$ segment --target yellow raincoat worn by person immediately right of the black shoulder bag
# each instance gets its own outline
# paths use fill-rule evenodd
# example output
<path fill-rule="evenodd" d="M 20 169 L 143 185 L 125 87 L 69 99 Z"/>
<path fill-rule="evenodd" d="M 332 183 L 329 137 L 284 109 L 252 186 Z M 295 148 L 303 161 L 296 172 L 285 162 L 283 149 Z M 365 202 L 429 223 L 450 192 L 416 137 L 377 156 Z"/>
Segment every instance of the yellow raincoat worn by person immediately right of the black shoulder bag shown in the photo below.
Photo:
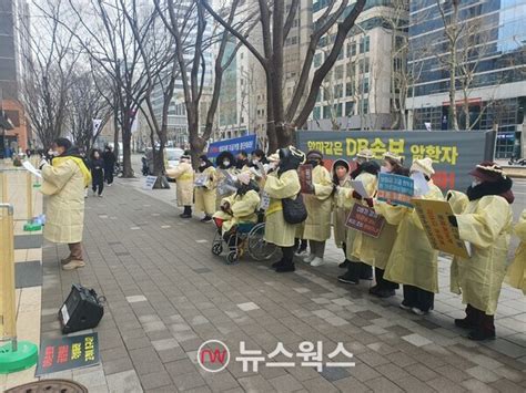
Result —
<path fill-rule="evenodd" d="M 331 237 L 331 211 L 333 207 L 333 182 L 328 170 L 317 165 L 312 170 L 314 194 L 304 194 L 303 200 L 307 209 L 303 239 L 325 241 Z"/>

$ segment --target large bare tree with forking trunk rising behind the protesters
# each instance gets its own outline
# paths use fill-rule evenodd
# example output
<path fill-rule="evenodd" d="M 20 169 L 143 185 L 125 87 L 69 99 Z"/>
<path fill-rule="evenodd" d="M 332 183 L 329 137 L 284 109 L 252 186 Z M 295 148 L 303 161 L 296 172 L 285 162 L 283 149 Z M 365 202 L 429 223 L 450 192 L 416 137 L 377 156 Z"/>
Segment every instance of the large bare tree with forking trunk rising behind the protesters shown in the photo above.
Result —
<path fill-rule="evenodd" d="M 296 18 L 300 0 L 291 0 L 289 11 L 286 11 L 285 8 L 285 0 L 274 0 L 271 2 L 256 0 L 256 2 L 260 10 L 260 24 L 263 38 L 262 51 L 256 49 L 231 22 L 215 12 L 208 0 L 200 0 L 200 3 L 204 6 L 206 11 L 229 30 L 232 35 L 240 40 L 264 69 L 266 75 L 269 149 L 273 151 L 279 146 L 292 144 L 294 130 L 306 123 L 316 103 L 316 96 L 322 82 L 336 62 L 347 33 L 362 12 L 366 0 L 357 0 L 351 12 L 346 15 L 344 12 L 347 8 L 348 0 L 343 0 L 337 9 L 335 9 L 335 1 L 328 3 L 311 34 L 311 41 L 308 42 L 306 55 L 303 60 L 302 71 L 294 90 L 294 95 L 286 107 L 283 92 L 283 48 Z M 313 80 L 307 89 L 310 71 L 317 44 L 322 37 L 334 25 L 337 25 L 337 32 L 332 43 L 330 54 L 323 64 L 314 72 Z M 301 105 L 302 107 L 300 108 Z"/>

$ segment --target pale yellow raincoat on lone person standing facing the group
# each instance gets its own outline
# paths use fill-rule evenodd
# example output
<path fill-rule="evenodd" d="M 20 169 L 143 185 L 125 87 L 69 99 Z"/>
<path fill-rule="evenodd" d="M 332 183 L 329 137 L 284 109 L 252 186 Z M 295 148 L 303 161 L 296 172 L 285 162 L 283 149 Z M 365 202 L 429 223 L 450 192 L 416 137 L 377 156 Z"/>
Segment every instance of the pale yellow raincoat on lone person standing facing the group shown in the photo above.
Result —
<path fill-rule="evenodd" d="M 80 242 L 84 226 L 84 176 L 73 159 L 42 168 L 45 200 L 43 236 L 52 242 Z"/>

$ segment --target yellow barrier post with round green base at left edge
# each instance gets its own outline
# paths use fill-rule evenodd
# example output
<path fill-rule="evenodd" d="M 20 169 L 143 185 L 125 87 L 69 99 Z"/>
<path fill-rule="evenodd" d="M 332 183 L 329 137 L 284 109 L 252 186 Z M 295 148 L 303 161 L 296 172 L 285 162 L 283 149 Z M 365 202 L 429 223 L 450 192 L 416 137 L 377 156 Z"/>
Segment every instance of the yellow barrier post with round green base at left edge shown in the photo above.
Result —
<path fill-rule="evenodd" d="M 13 206 L 0 204 L 0 374 L 37 364 L 38 348 L 17 338 Z"/>

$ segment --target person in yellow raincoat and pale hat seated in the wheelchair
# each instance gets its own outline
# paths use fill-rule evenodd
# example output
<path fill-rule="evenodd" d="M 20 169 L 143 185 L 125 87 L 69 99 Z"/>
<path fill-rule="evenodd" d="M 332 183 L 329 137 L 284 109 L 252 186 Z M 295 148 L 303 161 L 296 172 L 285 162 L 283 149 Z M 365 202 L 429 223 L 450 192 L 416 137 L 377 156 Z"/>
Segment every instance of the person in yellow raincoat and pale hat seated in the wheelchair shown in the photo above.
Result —
<path fill-rule="evenodd" d="M 221 231 L 230 248 L 237 246 L 235 234 L 240 225 L 257 223 L 257 208 L 260 206 L 260 188 L 257 183 L 251 179 L 250 173 L 239 174 L 237 183 L 237 192 L 223 198 L 220 210 L 213 216 L 216 223 L 218 220 L 221 221 L 221 225 L 218 225 L 218 230 Z"/>

